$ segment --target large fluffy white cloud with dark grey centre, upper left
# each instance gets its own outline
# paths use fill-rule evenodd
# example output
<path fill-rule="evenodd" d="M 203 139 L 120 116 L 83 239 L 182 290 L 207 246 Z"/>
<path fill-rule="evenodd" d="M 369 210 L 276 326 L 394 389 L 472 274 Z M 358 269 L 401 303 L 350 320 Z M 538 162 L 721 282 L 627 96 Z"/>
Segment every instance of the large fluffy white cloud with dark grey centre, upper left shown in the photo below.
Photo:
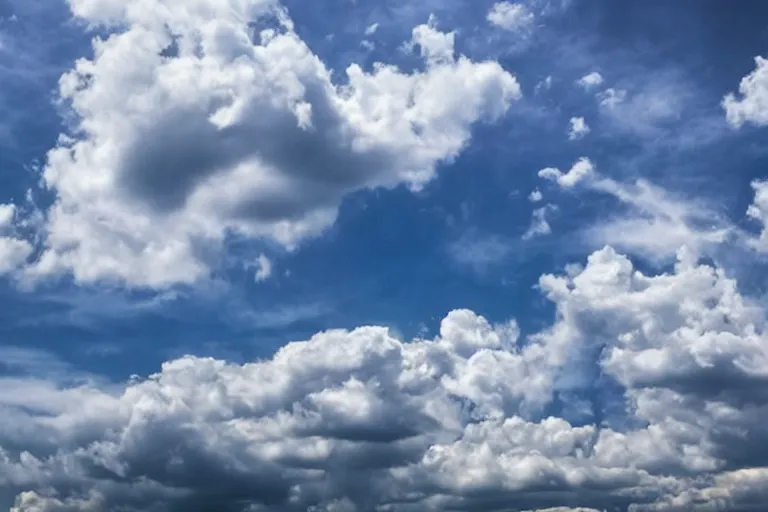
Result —
<path fill-rule="evenodd" d="M 368 187 L 418 189 L 479 120 L 520 96 L 495 61 L 413 30 L 423 70 L 351 65 L 335 77 L 267 0 L 70 0 L 94 57 L 60 81 L 73 128 L 48 154 L 42 255 L 31 277 L 71 273 L 163 287 L 207 275 L 229 233 L 288 248 Z M 266 16 L 277 29 L 259 30 Z"/>

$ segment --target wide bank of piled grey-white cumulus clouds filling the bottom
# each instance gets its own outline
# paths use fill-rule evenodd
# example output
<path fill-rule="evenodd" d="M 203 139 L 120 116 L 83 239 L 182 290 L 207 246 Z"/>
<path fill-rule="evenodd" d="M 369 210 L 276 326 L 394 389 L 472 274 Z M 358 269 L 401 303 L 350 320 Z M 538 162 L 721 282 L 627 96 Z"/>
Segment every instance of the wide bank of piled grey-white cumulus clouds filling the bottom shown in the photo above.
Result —
<path fill-rule="evenodd" d="M 606 247 L 539 288 L 555 320 L 525 339 L 457 310 L 434 339 L 332 330 L 122 386 L 3 377 L 0 499 L 15 495 L 14 512 L 761 503 L 768 339 L 735 281 L 687 250 L 646 275 Z M 548 415 L 585 358 L 623 421 Z"/>

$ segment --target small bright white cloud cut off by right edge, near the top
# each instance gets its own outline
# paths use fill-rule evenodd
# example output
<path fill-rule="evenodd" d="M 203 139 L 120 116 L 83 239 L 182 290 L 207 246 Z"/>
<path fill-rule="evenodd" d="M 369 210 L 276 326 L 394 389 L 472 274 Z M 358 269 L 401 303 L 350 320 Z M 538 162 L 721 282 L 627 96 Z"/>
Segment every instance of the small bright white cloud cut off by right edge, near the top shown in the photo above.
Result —
<path fill-rule="evenodd" d="M 744 123 L 768 124 L 768 60 L 755 57 L 755 69 L 741 79 L 739 95 L 728 93 L 723 108 L 728 122 L 736 128 Z"/>

